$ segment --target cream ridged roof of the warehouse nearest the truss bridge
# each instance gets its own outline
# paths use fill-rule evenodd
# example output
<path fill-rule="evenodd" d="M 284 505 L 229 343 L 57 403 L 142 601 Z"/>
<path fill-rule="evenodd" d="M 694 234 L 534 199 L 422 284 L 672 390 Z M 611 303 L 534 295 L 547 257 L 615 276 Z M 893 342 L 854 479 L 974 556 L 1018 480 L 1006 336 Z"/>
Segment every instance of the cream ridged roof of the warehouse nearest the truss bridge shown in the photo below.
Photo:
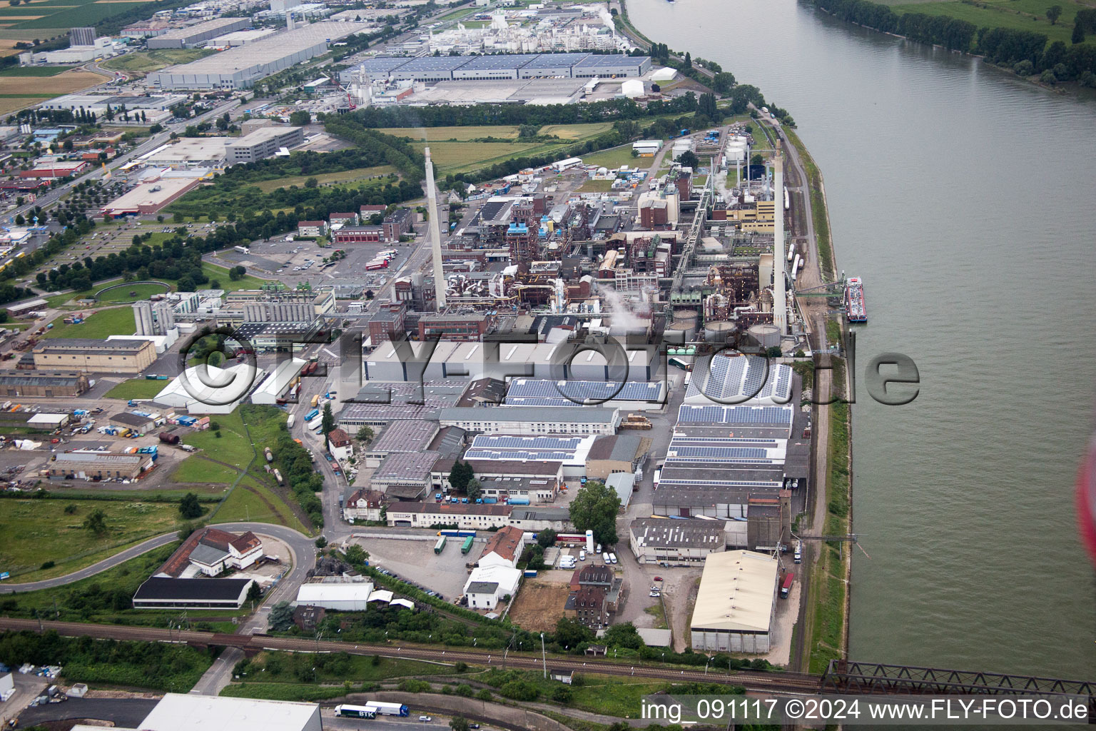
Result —
<path fill-rule="evenodd" d="M 755 551 L 709 553 L 693 609 L 693 631 L 767 632 L 778 561 Z"/>

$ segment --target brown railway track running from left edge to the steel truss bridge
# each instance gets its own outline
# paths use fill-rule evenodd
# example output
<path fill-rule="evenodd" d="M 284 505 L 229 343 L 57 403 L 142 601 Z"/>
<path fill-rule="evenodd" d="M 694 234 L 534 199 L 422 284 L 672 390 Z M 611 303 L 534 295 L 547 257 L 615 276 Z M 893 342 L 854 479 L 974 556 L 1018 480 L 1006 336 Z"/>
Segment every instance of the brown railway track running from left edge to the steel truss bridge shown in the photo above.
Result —
<path fill-rule="evenodd" d="M 94 637 L 109 640 L 133 640 L 139 642 L 182 642 L 199 647 L 233 647 L 244 651 L 281 650 L 284 652 L 346 652 L 358 655 L 380 655 L 381 658 L 408 658 L 426 662 L 468 664 L 501 667 L 503 654 L 495 650 L 439 649 L 437 647 L 403 644 L 351 644 L 350 642 L 315 641 L 270 635 L 226 635 L 219 632 L 196 632 L 187 630 L 161 629 L 156 627 L 133 627 L 126 625 L 88 625 L 75 621 L 43 621 L 42 629 L 54 630 L 67 637 Z M 0 629 L 38 631 L 39 623 L 34 619 L 0 617 Z M 536 655 L 507 653 L 505 666 L 522 670 L 540 670 L 541 659 Z M 703 670 L 676 669 L 651 665 L 631 665 L 606 659 L 578 659 L 553 655 L 552 667 L 574 670 L 583 673 L 650 677 L 677 683 L 718 683 L 738 685 L 753 692 L 781 692 L 797 694 L 818 693 L 822 678 L 807 673 L 705 673 Z"/>

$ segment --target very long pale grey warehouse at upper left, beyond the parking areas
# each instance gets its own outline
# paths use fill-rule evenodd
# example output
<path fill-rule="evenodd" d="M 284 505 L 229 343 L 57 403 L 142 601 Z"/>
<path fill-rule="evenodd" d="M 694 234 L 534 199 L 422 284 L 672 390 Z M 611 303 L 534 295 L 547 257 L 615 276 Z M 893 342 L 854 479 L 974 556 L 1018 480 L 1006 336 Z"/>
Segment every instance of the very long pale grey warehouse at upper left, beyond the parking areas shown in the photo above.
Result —
<path fill-rule="evenodd" d="M 161 89 L 247 89 L 256 80 L 327 53 L 328 43 L 365 23 L 311 23 L 148 76 Z M 161 36 L 162 37 L 162 36 Z"/>

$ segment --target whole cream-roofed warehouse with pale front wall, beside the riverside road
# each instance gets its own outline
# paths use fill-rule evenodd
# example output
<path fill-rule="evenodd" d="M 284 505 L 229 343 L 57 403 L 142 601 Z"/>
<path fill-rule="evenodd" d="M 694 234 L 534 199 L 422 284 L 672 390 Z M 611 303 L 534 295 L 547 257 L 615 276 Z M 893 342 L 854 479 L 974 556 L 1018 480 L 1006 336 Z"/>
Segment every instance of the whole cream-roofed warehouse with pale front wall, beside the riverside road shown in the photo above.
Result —
<path fill-rule="evenodd" d="M 699 652 L 769 651 L 779 561 L 766 553 L 728 551 L 704 561 L 689 629 Z"/>

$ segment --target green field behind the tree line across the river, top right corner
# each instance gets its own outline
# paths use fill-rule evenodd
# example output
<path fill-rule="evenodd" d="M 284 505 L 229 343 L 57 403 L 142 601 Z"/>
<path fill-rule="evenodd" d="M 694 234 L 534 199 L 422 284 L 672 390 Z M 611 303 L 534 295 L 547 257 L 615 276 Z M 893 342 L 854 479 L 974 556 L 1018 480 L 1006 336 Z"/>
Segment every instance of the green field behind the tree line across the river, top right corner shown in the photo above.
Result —
<path fill-rule="evenodd" d="M 882 0 L 897 13 L 925 13 L 946 15 L 982 27 L 1006 27 L 1017 31 L 1046 33 L 1050 42 L 1062 41 L 1070 45 L 1073 19 L 1077 10 L 1089 5 L 1074 0 L 979 0 L 978 4 L 952 0 L 950 2 L 910 2 L 910 0 Z M 1047 20 L 1047 9 L 1061 5 L 1062 15 L 1054 25 Z M 1088 35 L 1086 43 L 1093 43 Z"/>

